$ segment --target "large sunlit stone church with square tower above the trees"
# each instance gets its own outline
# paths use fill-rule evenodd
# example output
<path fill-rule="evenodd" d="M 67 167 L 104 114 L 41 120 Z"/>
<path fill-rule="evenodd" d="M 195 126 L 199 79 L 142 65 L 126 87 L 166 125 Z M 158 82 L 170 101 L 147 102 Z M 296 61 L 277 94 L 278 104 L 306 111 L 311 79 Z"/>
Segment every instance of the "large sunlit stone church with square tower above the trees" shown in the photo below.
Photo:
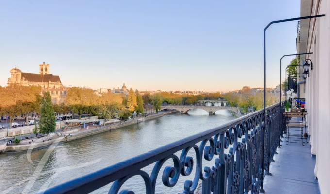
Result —
<path fill-rule="evenodd" d="M 8 86 L 19 84 L 22 86 L 40 86 L 43 91 L 49 91 L 52 102 L 60 104 L 65 102 L 66 88 L 62 85 L 59 76 L 50 74 L 50 65 L 43 62 L 39 65 L 39 74 L 24 73 L 16 67 L 10 70 Z"/>

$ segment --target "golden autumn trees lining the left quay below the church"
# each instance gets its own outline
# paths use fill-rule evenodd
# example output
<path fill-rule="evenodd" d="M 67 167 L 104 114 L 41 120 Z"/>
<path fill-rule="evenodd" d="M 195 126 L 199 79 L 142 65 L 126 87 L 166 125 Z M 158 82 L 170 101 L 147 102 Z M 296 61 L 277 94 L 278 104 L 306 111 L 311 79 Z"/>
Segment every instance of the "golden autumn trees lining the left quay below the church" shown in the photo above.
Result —
<path fill-rule="evenodd" d="M 42 93 L 41 87 L 37 86 L 0 87 L 0 115 L 8 116 L 10 123 L 14 122 L 16 117 L 22 116 L 28 124 L 29 114 L 33 113 L 40 117 L 45 94 Z M 161 97 L 154 95 L 150 97 L 150 100 L 151 105 L 158 112 L 161 108 Z M 105 123 L 113 117 L 125 120 L 134 112 L 144 113 L 145 106 L 139 91 L 133 91 L 132 88 L 127 96 L 111 92 L 98 96 L 92 89 L 72 87 L 68 88 L 66 102 L 53 104 L 51 108 L 56 115 L 73 113 L 81 118 L 82 114 L 88 114 L 89 116 L 99 116 Z"/>

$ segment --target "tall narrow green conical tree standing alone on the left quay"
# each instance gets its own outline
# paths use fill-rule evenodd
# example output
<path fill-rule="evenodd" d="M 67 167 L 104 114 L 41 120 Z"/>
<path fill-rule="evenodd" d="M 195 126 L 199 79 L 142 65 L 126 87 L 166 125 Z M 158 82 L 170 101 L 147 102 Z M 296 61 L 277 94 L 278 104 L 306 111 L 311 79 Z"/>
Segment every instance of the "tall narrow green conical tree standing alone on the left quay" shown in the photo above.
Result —
<path fill-rule="evenodd" d="M 40 108 L 39 130 L 41 133 L 49 134 L 55 132 L 55 112 L 51 103 L 49 92 L 44 93 Z"/>

